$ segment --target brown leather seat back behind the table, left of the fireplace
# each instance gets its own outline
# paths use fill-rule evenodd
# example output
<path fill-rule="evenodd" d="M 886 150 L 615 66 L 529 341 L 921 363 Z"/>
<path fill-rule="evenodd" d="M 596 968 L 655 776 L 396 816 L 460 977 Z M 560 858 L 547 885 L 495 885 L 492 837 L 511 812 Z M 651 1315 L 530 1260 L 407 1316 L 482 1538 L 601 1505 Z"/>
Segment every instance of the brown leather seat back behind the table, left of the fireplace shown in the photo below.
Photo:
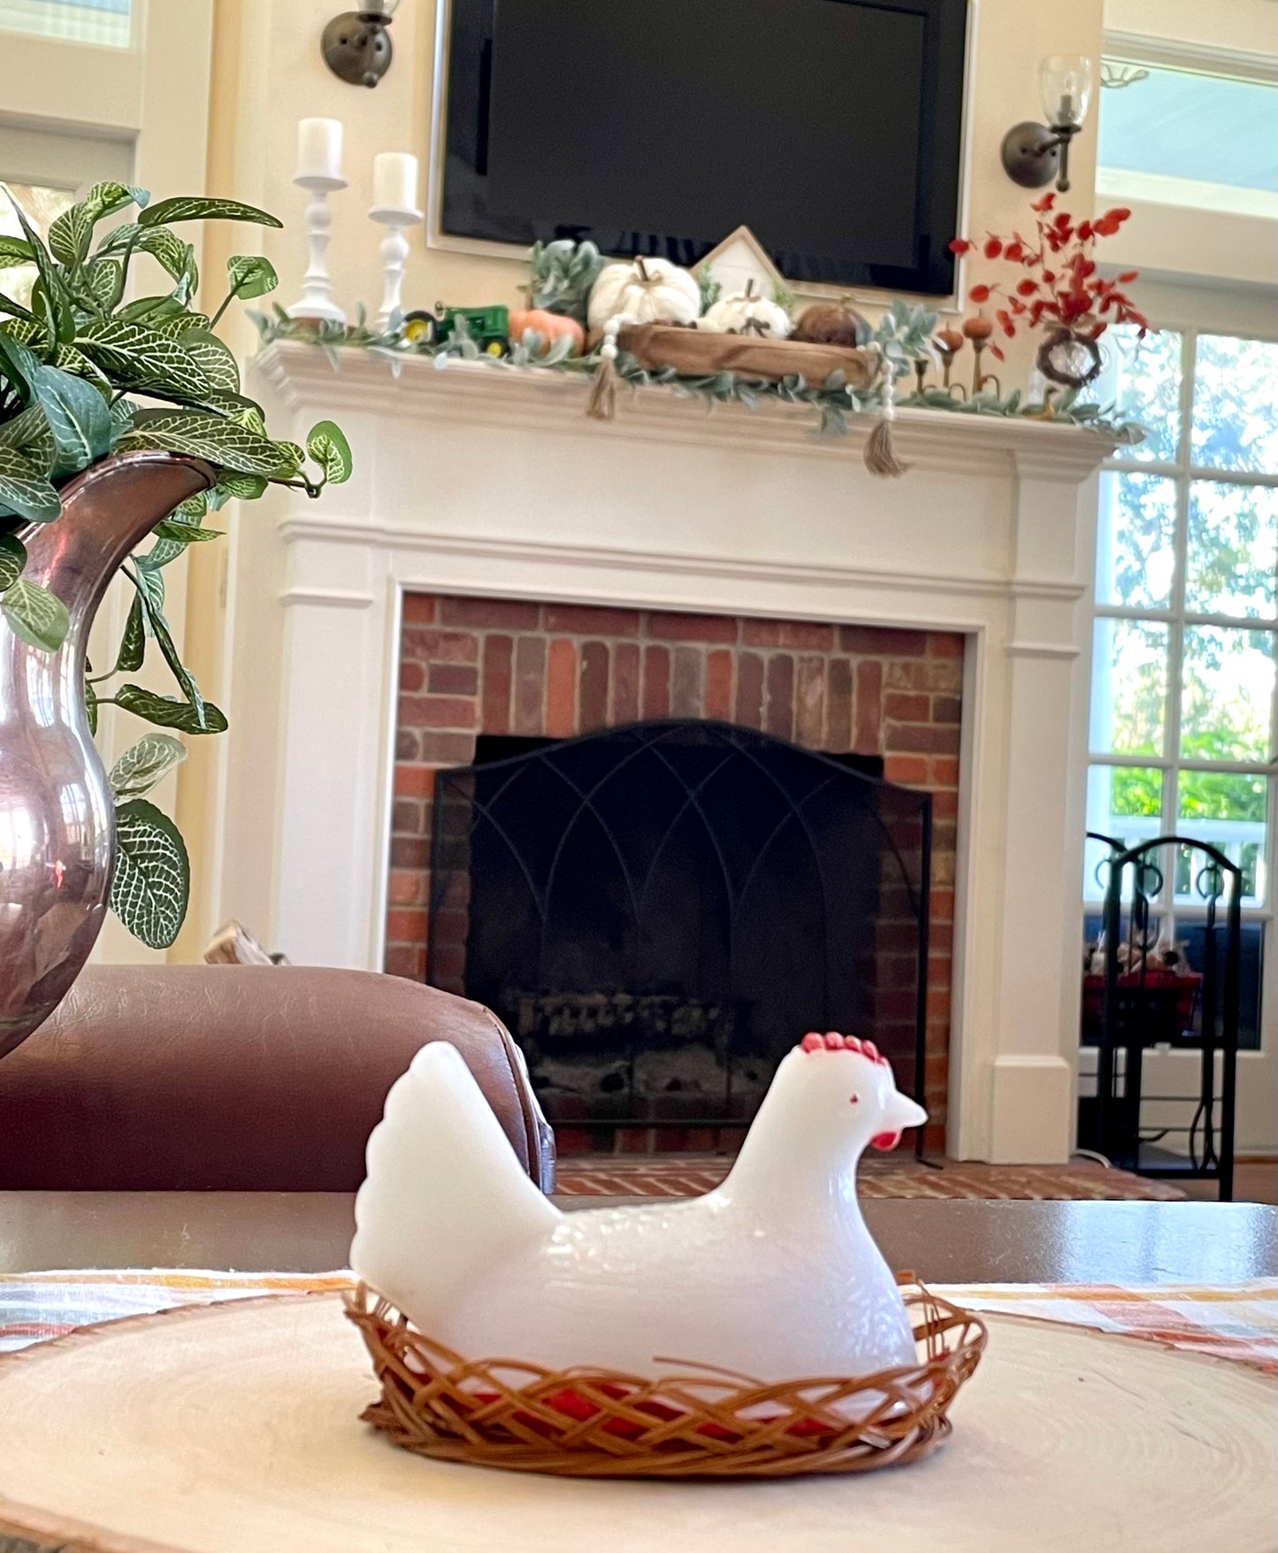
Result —
<path fill-rule="evenodd" d="M 450 1041 L 533 1180 L 554 1143 L 478 1003 L 365 971 L 90 966 L 0 1061 L 0 1190 L 354 1191 L 387 1090 Z"/>

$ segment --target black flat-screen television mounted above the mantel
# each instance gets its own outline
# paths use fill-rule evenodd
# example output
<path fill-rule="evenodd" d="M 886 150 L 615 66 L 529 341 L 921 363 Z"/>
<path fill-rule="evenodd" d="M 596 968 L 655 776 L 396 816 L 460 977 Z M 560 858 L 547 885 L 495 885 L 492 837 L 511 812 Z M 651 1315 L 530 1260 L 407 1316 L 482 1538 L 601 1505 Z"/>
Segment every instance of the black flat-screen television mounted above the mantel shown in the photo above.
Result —
<path fill-rule="evenodd" d="M 946 295 L 967 0 L 452 0 L 439 227 Z"/>

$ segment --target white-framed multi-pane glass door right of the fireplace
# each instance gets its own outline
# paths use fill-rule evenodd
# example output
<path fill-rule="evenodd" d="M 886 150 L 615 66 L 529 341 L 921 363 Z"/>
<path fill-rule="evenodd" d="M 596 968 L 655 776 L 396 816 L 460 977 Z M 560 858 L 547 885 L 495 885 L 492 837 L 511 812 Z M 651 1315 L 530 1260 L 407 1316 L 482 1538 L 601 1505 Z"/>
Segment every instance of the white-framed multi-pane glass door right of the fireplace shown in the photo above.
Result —
<path fill-rule="evenodd" d="M 1101 474 L 1087 828 L 1127 846 L 1177 834 L 1239 863 L 1258 983 L 1278 773 L 1278 343 L 1193 329 L 1106 339 L 1099 391 L 1149 436 Z M 1106 856 L 1089 840 L 1093 909 Z M 1155 905 L 1172 936 L 1193 936 L 1188 854 Z"/>

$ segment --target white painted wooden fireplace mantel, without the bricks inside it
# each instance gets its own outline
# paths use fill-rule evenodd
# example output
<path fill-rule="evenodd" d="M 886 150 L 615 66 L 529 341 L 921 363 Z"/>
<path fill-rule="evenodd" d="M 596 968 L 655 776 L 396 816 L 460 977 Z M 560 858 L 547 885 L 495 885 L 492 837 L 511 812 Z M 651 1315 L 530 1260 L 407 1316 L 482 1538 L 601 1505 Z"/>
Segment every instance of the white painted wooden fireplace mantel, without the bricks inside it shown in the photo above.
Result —
<path fill-rule="evenodd" d="M 1095 469 L 1112 443 L 902 410 L 865 426 L 669 390 L 589 421 L 575 376 L 276 343 L 276 435 L 335 419 L 356 474 L 234 528 L 216 905 L 293 960 L 380 966 L 401 599 L 408 590 L 961 631 L 950 1151 L 1073 1138 Z"/>

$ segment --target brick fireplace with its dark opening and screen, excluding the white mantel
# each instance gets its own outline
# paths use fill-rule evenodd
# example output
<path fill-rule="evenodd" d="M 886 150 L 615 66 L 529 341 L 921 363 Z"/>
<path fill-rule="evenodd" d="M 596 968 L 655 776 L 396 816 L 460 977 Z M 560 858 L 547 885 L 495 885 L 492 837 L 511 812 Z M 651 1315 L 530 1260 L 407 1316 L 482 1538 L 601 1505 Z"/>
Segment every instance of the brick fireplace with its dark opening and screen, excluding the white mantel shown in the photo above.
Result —
<path fill-rule="evenodd" d="M 494 1008 L 561 1152 L 731 1148 L 809 1028 L 943 1143 L 963 638 L 405 598 L 385 968 Z"/>

